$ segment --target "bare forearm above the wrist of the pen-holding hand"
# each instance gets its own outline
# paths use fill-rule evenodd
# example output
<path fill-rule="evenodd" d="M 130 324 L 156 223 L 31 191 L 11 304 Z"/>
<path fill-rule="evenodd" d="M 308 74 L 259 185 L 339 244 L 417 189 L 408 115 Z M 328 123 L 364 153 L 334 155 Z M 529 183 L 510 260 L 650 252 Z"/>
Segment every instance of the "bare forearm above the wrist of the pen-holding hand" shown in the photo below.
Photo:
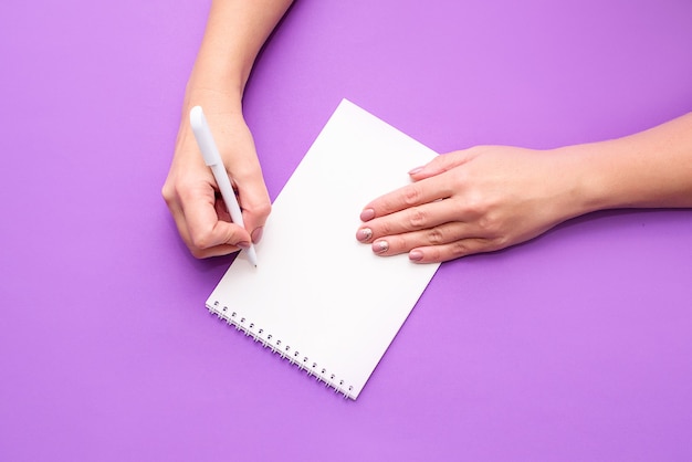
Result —
<path fill-rule="evenodd" d="M 205 36 L 188 81 L 196 92 L 242 94 L 254 60 L 291 0 L 213 0 Z"/>

